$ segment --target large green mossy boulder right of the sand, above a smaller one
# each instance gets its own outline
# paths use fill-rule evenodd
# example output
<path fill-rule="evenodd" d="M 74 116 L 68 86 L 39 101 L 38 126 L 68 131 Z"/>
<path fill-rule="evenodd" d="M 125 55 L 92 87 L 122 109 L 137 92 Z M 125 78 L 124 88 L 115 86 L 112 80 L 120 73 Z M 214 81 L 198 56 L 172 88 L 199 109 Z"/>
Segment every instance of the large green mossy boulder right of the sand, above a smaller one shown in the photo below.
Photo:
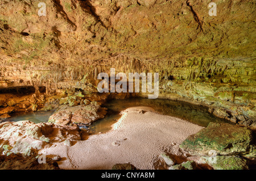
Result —
<path fill-rule="evenodd" d="M 180 148 L 192 155 L 209 155 L 212 150 L 218 155 L 249 154 L 252 140 L 252 131 L 246 127 L 209 123 L 207 128 L 183 141 Z"/>

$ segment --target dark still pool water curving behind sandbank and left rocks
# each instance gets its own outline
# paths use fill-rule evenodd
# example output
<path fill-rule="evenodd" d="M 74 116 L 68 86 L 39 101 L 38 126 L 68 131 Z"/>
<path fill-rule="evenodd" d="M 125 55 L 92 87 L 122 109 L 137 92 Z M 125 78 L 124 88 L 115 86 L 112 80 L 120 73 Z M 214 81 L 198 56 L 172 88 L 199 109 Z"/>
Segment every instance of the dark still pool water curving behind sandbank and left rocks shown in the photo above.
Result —
<path fill-rule="evenodd" d="M 189 103 L 177 102 L 174 100 L 166 99 L 146 99 L 146 98 L 133 98 L 133 99 L 119 99 L 110 100 L 108 103 L 102 105 L 108 108 L 108 113 L 104 119 L 100 119 L 89 125 L 92 133 L 108 132 L 112 129 L 112 125 L 121 117 L 119 114 L 121 111 L 126 110 L 129 107 L 148 106 L 154 108 L 154 110 L 162 115 L 169 115 L 179 117 L 181 119 L 190 121 L 197 125 L 207 127 L 210 122 L 214 123 L 230 123 L 225 119 L 214 116 L 208 112 L 207 107 L 195 106 Z M 47 122 L 49 116 L 54 111 L 39 111 L 30 113 L 14 113 L 12 117 L 6 119 L 6 121 L 21 121 L 30 120 L 34 123 Z"/>

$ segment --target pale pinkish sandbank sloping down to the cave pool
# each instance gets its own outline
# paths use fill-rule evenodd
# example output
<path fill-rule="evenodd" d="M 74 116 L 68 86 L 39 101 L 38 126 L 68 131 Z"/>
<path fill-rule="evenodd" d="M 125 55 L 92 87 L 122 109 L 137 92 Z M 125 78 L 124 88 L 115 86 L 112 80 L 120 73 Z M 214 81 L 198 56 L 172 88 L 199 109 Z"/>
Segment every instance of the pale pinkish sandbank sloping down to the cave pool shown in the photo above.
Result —
<path fill-rule="evenodd" d="M 116 163 L 128 162 L 137 169 L 154 169 L 160 154 L 167 150 L 180 155 L 181 142 L 202 128 L 160 115 L 149 107 L 132 107 L 122 112 L 111 131 L 92 135 L 71 147 L 61 142 L 40 153 L 60 155 L 61 169 L 112 169 Z"/>

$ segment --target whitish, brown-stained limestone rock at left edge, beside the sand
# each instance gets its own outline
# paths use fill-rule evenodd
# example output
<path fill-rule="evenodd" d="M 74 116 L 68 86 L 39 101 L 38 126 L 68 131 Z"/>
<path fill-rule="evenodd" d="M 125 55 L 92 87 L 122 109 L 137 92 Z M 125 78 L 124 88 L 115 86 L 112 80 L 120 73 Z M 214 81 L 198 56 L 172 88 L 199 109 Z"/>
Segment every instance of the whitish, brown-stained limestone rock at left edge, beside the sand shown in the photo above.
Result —
<path fill-rule="evenodd" d="M 79 128 L 52 123 L 35 124 L 31 121 L 0 124 L 0 151 L 8 150 L 23 155 L 36 155 L 38 150 L 45 146 L 67 139 L 81 140 Z"/>

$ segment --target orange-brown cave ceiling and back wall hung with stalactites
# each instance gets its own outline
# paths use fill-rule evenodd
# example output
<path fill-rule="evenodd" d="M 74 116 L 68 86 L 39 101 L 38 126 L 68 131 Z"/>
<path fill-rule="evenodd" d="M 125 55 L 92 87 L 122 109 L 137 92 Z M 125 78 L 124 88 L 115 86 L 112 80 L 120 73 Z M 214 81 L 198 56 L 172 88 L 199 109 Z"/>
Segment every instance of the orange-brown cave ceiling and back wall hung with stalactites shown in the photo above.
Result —
<path fill-rule="evenodd" d="M 0 89 L 96 91 L 110 68 L 159 72 L 160 97 L 256 119 L 255 1 L 10 0 L 0 8 Z M 254 124 L 255 125 L 255 124 Z"/>

